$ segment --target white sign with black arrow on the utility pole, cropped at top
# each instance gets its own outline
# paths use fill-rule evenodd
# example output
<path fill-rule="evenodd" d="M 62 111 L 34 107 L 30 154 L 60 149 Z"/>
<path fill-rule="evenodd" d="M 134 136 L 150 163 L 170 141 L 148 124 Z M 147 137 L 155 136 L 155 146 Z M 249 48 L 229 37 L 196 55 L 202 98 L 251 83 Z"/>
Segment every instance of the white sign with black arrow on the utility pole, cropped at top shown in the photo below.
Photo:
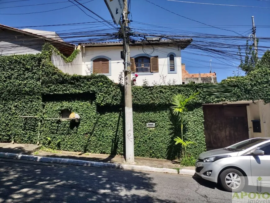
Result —
<path fill-rule="evenodd" d="M 118 25 L 122 12 L 124 10 L 124 0 L 104 0 L 109 11 L 112 19 L 114 20 L 115 24 Z"/>

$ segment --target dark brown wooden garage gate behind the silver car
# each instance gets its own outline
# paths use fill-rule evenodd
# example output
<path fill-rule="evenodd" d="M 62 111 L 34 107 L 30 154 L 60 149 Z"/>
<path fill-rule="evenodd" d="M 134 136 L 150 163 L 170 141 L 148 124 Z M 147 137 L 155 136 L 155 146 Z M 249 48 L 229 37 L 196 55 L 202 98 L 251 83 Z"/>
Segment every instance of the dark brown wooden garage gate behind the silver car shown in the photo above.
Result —
<path fill-rule="evenodd" d="M 204 105 L 207 150 L 214 150 L 249 139 L 246 105 Z"/>

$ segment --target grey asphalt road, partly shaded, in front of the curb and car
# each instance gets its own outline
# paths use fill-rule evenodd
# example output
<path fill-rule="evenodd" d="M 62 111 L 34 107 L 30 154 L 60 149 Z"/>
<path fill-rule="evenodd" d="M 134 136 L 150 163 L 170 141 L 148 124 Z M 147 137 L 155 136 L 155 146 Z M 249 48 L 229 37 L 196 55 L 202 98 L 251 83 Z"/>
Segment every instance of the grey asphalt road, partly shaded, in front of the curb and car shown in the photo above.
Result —
<path fill-rule="evenodd" d="M 201 178 L 7 160 L 0 160 L 1 203 L 232 202 Z"/>

